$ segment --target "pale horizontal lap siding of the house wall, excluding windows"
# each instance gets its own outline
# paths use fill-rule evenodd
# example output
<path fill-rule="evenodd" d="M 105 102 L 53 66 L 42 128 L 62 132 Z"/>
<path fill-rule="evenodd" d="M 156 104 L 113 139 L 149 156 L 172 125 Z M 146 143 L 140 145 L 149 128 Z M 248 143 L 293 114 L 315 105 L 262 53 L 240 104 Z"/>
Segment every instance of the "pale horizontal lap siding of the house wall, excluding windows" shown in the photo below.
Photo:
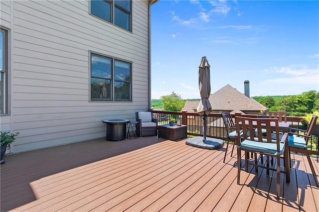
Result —
<path fill-rule="evenodd" d="M 1 1 L 1 25 L 2 4 L 10 3 Z M 7 122 L 20 132 L 13 152 L 105 137 L 103 119 L 135 119 L 148 109 L 149 5 L 132 4 L 132 32 L 90 15 L 85 0 L 14 1 L 13 14 L 4 8 L 4 22 L 13 22 Z M 89 101 L 90 51 L 132 62 L 132 102 Z"/>

